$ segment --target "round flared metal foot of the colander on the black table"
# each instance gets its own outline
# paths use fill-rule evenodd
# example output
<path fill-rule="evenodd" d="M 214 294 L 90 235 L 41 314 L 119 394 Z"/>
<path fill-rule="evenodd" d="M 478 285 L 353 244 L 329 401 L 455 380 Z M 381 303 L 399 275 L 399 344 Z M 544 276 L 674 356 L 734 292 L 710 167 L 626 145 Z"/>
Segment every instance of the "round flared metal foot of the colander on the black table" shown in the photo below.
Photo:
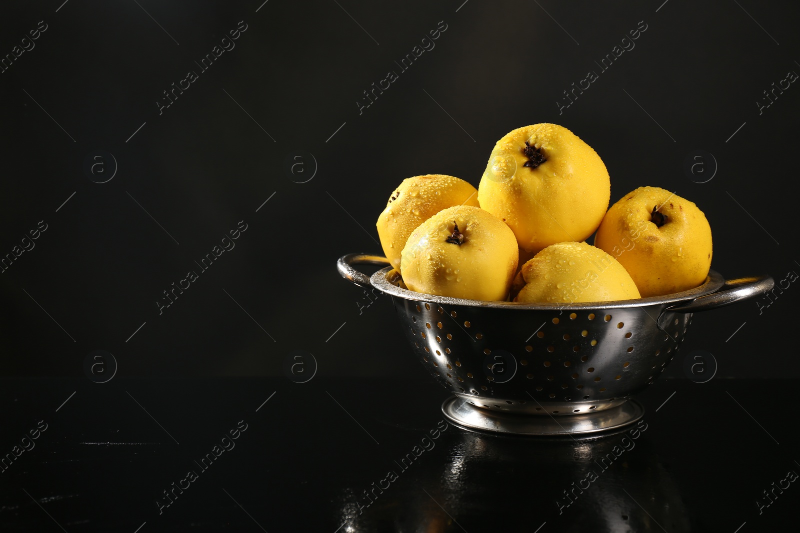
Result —
<path fill-rule="evenodd" d="M 454 424 L 481 432 L 528 436 L 575 436 L 606 432 L 634 424 L 644 415 L 636 400 L 592 413 L 579 415 L 514 415 L 479 408 L 468 401 L 451 396 L 442 404 L 442 412 Z"/>

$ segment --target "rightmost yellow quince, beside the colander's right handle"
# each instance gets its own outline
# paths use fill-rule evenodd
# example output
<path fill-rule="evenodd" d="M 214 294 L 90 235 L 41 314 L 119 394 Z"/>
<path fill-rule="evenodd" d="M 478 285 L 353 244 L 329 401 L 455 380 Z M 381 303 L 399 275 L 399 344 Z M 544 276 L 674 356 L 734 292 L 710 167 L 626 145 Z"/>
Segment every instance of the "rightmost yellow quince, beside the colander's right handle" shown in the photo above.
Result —
<path fill-rule="evenodd" d="M 611 206 L 594 245 L 622 263 L 642 296 L 702 284 L 711 268 L 711 227 L 694 202 L 639 187 Z"/>

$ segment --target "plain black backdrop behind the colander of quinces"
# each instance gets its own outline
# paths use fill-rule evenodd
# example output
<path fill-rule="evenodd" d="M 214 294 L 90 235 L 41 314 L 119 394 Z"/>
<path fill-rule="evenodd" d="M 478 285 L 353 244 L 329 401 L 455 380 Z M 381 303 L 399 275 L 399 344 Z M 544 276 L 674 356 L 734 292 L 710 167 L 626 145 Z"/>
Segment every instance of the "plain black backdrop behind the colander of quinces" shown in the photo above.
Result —
<path fill-rule="evenodd" d="M 0 253 L 38 221 L 48 225 L 0 274 L 5 375 L 81 376 L 86 354 L 103 349 L 119 376 L 282 376 L 287 354 L 302 349 L 320 376 L 422 376 L 390 300 L 359 310 L 362 290 L 335 261 L 380 252 L 374 221 L 402 179 L 448 173 L 477 186 L 494 142 L 537 122 L 565 125 L 596 149 L 612 203 L 640 185 L 697 203 L 723 276 L 778 281 L 800 271 L 800 89 L 762 114 L 756 103 L 800 71 L 800 8 L 790 2 L 54 0 L 0 9 L 3 55 L 47 24 L 0 74 Z M 159 114 L 162 91 L 198 70 L 239 21 L 247 30 L 234 50 Z M 398 70 L 439 21 L 447 29 L 434 50 L 359 114 L 362 91 Z M 634 50 L 600 73 L 594 62 L 640 21 L 647 29 Z M 559 113 L 562 91 L 589 70 L 598 81 Z M 84 172 L 98 149 L 118 163 L 104 184 Z M 718 164 L 702 184 L 683 169 L 697 149 Z M 318 163 L 306 183 L 294 181 L 308 173 L 286 172 L 295 150 Z M 242 220 L 235 249 L 159 316 L 162 291 Z M 698 314 L 683 352 L 714 353 L 718 378 L 797 376 L 796 290 L 762 313 L 749 301 Z M 682 375 L 681 365 L 668 375 Z"/>

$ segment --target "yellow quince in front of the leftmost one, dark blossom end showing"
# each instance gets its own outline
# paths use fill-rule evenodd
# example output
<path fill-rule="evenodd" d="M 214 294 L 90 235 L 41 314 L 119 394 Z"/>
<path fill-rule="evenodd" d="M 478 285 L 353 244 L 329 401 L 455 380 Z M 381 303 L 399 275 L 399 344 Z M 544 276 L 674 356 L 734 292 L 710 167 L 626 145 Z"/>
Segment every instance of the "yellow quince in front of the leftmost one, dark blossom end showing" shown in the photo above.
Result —
<path fill-rule="evenodd" d="M 402 250 L 412 291 L 469 300 L 506 300 L 517 270 L 514 233 L 473 205 L 443 209 L 414 229 Z"/>

